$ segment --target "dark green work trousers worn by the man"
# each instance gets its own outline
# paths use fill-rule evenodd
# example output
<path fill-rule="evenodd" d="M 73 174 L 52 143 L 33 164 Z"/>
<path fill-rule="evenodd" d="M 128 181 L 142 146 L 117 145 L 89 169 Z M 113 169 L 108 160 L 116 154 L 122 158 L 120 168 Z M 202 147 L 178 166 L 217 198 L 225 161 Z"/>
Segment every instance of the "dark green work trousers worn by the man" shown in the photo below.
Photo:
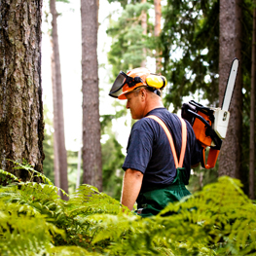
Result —
<path fill-rule="evenodd" d="M 171 185 L 164 188 L 150 188 L 139 193 L 136 213 L 141 217 L 157 215 L 169 202 L 180 201 L 191 195 L 183 182 L 183 168 L 177 168 L 177 175 Z"/>

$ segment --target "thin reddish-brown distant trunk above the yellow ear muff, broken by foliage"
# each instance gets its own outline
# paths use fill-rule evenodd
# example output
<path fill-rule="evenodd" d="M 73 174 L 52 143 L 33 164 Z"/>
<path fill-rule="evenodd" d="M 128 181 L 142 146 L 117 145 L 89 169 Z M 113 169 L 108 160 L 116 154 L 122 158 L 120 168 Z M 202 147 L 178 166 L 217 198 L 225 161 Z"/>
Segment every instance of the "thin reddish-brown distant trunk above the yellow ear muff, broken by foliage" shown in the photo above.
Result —
<path fill-rule="evenodd" d="M 161 0 L 154 0 L 155 6 L 155 29 L 154 35 L 155 37 L 159 37 L 161 33 L 161 18 L 162 18 L 162 10 L 161 10 Z M 162 53 L 160 51 L 156 52 L 156 71 L 157 73 L 161 72 L 162 69 Z"/>

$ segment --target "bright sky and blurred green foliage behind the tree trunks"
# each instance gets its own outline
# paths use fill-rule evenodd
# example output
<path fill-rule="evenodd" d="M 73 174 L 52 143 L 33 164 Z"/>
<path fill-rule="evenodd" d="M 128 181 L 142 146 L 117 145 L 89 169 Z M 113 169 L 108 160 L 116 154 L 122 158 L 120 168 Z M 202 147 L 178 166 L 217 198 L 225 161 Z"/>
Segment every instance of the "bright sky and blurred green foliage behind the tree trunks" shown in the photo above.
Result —
<path fill-rule="evenodd" d="M 141 15 L 142 4 L 132 2 L 99 2 L 98 26 L 98 75 L 99 108 L 101 115 L 101 147 L 103 192 L 119 199 L 123 171 L 122 163 L 126 155 L 129 129 L 132 122 L 122 102 L 109 98 L 108 91 L 119 70 L 128 71 L 130 67 L 141 64 L 136 51 L 141 50 L 140 39 L 144 40 L 147 51 L 147 67 L 156 71 L 156 53 L 162 48 L 163 70 L 167 77 L 165 89 L 165 106 L 169 111 L 178 112 L 182 102 L 190 99 L 209 106 L 218 106 L 218 61 L 219 61 L 219 2 L 193 1 L 174 2 L 172 7 L 162 1 L 163 17 L 160 40 L 152 36 L 154 26 L 153 3 L 144 3 L 148 13 L 147 35 L 138 36 L 142 31 L 134 25 Z M 171 11 L 171 8 L 172 11 Z M 65 137 L 68 149 L 68 181 L 70 191 L 74 191 L 77 182 L 78 152 L 82 142 L 82 81 L 81 81 L 81 17 L 80 5 L 76 1 L 56 2 L 56 9 L 61 15 L 57 18 L 59 34 L 59 51 L 61 60 Z M 51 16 L 49 7 L 44 2 L 43 44 L 42 44 L 42 85 L 45 102 L 46 139 L 44 172 L 54 181 L 53 149 L 53 98 L 51 82 L 51 44 L 49 29 Z M 168 10 L 168 11 L 167 11 Z M 250 115 L 250 52 L 252 40 L 252 2 L 242 5 L 243 25 L 246 27 L 242 40 L 243 69 L 242 81 L 242 136 L 240 173 L 238 177 L 244 184 L 244 192 L 249 193 L 249 115 Z M 133 21 L 128 21 L 129 12 L 133 12 Z M 169 12 L 174 18 L 165 15 Z M 174 19 L 182 18 L 180 25 Z M 127 20 L 126 20 L 127 18 Z M 133 22 L 133 24 L 132 24 Z M 128 26 L 130 29 L 128 30 Z M 172 26 L 172 27 L 171 27 Z M 133 30 L 132 30 L 133 29 Z M 122 32 L 122 30 L 124 32 Z M 171 31 L 173 30 L 173 31 Z M 243 34 L 243 35 L 244 35 Z M 124 39 L 130 47 L 124 43 Z M 246 43 L 245 43 L 246 42 Z M 162 45 L 162 46 L 161 46 Z M 123 47 L 124 51 L 120 51 Z M 132 49 L 133 48 L 133 49 Z M 246 50 L 245 50 L 246 49 Z M 126 52 L 127 51 L 127 52 Z M 169 52 L 169 53 L 168 53 Z M 234 57 L 236 54 L 234 53 Z M 232 60 L 232 59 L 231 59 Z M 241 59 L 240 59 L 241 60 Z M 177 71 L 178 70 L 178 71 Z M 226 79 L 228 73 L 226 74 Z M 112 121 L 112 122 L 109 122 Z M 124 125 L 125 124 L 125 125 Z M 110 156 L 111 155 L 111 156 Z M 242 170 L 242 171 L 241 171 Z M 81 172 L 80 172 L 81 173 Z M 82 174 L 81 174 L 82 175 Z M 216 181 L 218 164 L 214 169 L 197 168 L 193 171 L 190 182 L 192 192 L 201 190 L 203 185 Z M 82 177 L 81 177 L 82 181 Z M 116 188 L 114 191 L 110 188 Z"/>

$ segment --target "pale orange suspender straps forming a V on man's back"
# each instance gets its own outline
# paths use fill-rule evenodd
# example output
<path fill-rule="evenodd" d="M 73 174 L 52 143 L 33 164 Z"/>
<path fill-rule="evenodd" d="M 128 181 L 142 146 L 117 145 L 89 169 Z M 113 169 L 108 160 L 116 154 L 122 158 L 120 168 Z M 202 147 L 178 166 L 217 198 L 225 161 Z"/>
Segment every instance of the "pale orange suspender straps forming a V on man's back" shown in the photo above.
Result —
<path fill-rule="evenodd" d="M 173 155 L 175 167 L 176 168 L 182 167 L 183 162 L 184 162 L 184 157 L 185 157 L 186 145 L 187 145 L 187 127 L 186 127 L 185 121 L 179 117 L 179 119 L 181 121 L 182 144 L 181 144 L 180 158 L 179 158 L 179 162 L 178 162 L 177 153 L 176 153 L 176 150 L 174 147 L 173 139 L 172 139 L 172 136 L 171 136 L 168 128 L 166 127 L 165 123 L 157 116 L 151 115 L 151 116 L 148 116 L 147 118 L 154 119 L 155 121 L 157 121 L 160 124 L 160 126 L 162 128 L 164 128 L 166 136 L 169 141 L 170 149 L 171 149 L 171 152 Z"/>

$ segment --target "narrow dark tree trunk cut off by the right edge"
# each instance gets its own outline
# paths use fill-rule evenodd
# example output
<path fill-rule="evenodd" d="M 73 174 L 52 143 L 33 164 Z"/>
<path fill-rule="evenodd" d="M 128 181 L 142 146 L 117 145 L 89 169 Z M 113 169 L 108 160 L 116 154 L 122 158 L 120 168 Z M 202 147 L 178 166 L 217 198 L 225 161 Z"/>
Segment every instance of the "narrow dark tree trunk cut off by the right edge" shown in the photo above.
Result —
<path fill-rule="evenodd" d="M 255 4 L 256 1 L 254 1 Z M 251 48 L 251 111 L 250 111 L 250 165 L 249 198 L 255 200 L 255 58 L 256 58 L 256 8 L 253 10 L 252 48 Z"/>

